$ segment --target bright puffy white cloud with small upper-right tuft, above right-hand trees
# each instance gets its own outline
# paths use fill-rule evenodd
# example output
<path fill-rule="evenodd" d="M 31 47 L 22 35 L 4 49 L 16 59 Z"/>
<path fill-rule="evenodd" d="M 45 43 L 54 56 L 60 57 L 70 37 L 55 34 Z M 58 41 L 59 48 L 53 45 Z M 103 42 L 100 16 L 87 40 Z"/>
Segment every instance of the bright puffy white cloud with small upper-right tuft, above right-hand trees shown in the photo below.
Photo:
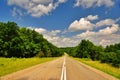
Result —
<path fill-rule="evenodd" d="M 75 20 L 69 26 L 70 31 L 79 31 L 79 30 L 92 30 L 95 25 L 90 21 L 97 20 L 98 15 L 88 15 L 85 18 L 80 18 L 80 20 Z"/>

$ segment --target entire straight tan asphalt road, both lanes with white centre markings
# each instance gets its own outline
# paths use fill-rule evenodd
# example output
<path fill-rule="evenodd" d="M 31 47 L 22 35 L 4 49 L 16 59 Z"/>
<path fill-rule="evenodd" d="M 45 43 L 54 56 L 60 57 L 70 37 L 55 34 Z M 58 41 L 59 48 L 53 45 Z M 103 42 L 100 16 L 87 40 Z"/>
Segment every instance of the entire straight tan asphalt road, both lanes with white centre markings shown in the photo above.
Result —
<path fill-rule="evenodd" d="M 62 78 L 63 77 L 63 78 Z M 117 80 L 67 56 L 42 63 L 12 74 L 0 80 Z"/>

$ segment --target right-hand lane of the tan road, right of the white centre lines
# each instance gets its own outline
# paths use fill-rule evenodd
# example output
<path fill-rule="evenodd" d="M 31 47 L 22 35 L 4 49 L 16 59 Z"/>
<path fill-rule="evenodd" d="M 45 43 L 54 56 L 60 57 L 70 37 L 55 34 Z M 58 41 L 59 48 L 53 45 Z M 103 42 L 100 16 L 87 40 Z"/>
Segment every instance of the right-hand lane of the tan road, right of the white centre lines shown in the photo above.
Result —
<path fill-rule="evenodd" d="M 118 80 L 68 57 L 66 58 L 66 67 L 67 80 Z"/>

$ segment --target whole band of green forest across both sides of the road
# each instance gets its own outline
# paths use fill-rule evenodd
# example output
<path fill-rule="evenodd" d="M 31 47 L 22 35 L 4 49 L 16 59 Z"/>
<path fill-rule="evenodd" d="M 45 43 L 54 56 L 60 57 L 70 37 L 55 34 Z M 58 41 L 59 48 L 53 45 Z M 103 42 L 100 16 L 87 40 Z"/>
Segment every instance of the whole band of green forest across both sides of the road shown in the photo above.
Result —
<path fill-rule="evenodd" d="M 120 67 L 120 43 L 103 48 L 82 40 L 76 47 L 58 48 L 35 30 L 19 27 L 15 22 L 0 22 L 0 57 L 58 57 L 64 52 Z"/>

